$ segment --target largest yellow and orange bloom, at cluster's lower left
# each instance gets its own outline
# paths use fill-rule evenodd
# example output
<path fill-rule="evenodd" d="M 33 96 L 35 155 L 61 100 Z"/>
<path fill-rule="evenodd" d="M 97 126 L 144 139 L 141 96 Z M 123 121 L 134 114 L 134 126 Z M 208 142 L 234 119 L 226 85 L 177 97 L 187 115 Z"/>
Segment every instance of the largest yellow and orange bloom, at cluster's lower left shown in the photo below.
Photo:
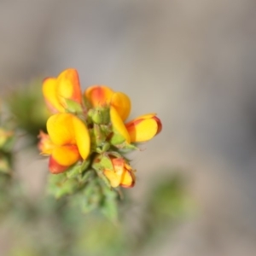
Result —
<path fill-rule="evenodd" d="M 90 154 L 90 135 L 84 122 L 72 113 L 55 113 L 47 121 L 49 136 L 41 133 L 38 147 L 49 154 L 49 171 L 65 172 Z"/>

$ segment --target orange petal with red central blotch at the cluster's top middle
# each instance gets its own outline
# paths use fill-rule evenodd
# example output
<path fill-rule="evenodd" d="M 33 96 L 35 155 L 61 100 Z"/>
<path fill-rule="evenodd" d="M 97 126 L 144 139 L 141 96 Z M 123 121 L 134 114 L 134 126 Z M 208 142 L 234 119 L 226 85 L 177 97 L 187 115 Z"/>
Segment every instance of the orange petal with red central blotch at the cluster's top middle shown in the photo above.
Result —
<path fill-rule="evenodd" d="M 92 85 L 85 90 L 85 96 L 92 107 L 108 105 L 112 95 L 113 90 L 106 85 Z"/>

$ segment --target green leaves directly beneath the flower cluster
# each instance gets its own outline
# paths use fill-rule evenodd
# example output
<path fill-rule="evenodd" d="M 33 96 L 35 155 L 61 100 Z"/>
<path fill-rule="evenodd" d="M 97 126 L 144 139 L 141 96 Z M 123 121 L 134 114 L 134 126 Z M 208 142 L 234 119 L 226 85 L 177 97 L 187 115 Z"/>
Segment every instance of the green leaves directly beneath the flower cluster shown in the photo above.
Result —
<path fill-rule="evenodd" d="M 102 157 L 102 162 L 112 167 L 108 157 Z M 111 188 L 101 170 L 90 170 L 89 166 L 90 162 L 84 161 L 82 165 L 72 166 L 67 172 L 49 174 L 48 194 L 56 199 L 73 195 L 72 198 L 68 198 L 69 203 L 80 207 L 82 212 L 88 213 L 99 209 L 107 218 L 116 222 L 119 192 Z"/>

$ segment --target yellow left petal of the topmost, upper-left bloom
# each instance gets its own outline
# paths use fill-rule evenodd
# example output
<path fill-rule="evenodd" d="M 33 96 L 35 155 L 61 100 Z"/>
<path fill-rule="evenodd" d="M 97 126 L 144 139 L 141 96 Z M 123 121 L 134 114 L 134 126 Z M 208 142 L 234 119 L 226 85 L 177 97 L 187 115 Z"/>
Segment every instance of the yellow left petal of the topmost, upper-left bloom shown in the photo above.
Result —
<path fill-rule="evenodd" d="M 61 102 L 57 97 L 57 79 L 44 79 L 43 95 L 50 112 L 65 112 L 65 108 L 61 105 Z"/>

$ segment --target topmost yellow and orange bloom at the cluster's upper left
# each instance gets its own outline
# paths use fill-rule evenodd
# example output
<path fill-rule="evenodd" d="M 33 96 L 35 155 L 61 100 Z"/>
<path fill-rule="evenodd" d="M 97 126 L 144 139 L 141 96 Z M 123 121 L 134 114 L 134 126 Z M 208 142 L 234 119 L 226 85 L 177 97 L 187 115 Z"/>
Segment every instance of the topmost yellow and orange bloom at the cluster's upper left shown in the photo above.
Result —
<path fill-rule="evenodd" d="M 67 100 L 81 104 L 82 93 L 78 72 L 69 68 L 64 70 L 57 78 L 44 79 L 43 94 L 51 113 L 65 113 Z"/>

